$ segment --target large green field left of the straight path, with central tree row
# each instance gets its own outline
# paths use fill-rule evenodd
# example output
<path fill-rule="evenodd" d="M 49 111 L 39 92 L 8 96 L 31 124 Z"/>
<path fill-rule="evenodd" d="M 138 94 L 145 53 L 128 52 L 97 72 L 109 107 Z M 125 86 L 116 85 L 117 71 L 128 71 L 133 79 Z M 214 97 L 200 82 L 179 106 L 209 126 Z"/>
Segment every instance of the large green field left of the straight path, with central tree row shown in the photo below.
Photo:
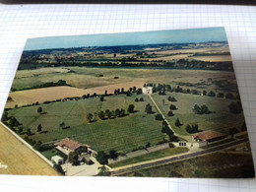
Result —
<path fill-rule="evenodd" d="M 145 101 L 134 102 L 136 97 L 144 97 Z M 41 104 L 42 111 L 46 114 L 37 113 L 37 106 L 14 108 L 9 110 L 9 116 L 15 116 L 23 126 L 32 129 L 33 140 L 50 142 L 66 137 L 71 137 L 81 143 L 92 146 L 96 151 L 116 151 L 130 152 L 148 142 L 156 145 L 166 138 L 161 133 L 161 122 L 155 120 L 154 114 L 146 114 L 145 106 L 151 102 L 148 96 L 105 96 L 105 101 L 100 101 L 97 97 L 80 100 L 68 100 L 65 102 L 53 102 Z M 100 120 L 89 123 L 87 114 L 100 110 L 127 107 L 130 103 L 135 105 L 135 113 L 114 119 Z M 156 111 L 156 110 L 155 110 Z M 61 129 L 59 124 L 65 122 L 68 129 Z M 36 132 L 37 125 L 42 125 L 43 131 Z"/>

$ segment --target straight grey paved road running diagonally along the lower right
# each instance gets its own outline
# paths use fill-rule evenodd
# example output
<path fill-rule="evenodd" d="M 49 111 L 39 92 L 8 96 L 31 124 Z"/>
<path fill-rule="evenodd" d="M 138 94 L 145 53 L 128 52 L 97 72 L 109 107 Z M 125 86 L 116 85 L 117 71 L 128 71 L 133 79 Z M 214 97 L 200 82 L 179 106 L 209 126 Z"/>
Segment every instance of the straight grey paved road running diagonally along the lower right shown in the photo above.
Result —
<path fill-rule="evenodd" d="M 210 153 L 213 153 L 213 152 L 218 152 L 218 151 L 224 150 L 224 149 L 232 147 L 232 146 L 236 146 L 238 144 L 241 144 L 241 143 L 244 143 L 244 142 L 247 142 L 247 141 L 248 141 L 248 139 L 246 138 L 246 139 L 238 140 L 238 141 L 228 143 L 228 144 L 225 144 L 225 145 L 222 145 L 222 146 L 219 146 L 219 147 L 215 147 L 213 149 L 205 150 L 205 151 L 202 151 L 202 152 L 196 152 L 196 153 L 193 153 L 193 154 L 183 155 L 183 156 L 179 156 L 179 157 L 175 157 L 175 158 L 170 158 L 170 159 L 167 159 L 167 160 L 158 160 L 158 161 L 155 161 L 155 162 L 149 162 L 149 163 L 146 163 L 146 164 L 134 165 L 134 166 L 130 166 L 128 168 L 113 170 L 113 171 L 111 171 L 111 175 L 114 176 L 114 175 L 118 175 L 118 174 L 123 174 L 123 173 L 131 172 L 131 171 L 135 171 L 135 170 L 138 170 L 138 169 L 149 168 L 149 167 L 152 167 L 152 166 L 169 163 L 169 162 L 172 162 L 172 161 L 175 161 L 175 160 L 185 160 L 185 159 L 188 159 L 188 158 L 196 158 L 198 156 L 210 154 Z"/>

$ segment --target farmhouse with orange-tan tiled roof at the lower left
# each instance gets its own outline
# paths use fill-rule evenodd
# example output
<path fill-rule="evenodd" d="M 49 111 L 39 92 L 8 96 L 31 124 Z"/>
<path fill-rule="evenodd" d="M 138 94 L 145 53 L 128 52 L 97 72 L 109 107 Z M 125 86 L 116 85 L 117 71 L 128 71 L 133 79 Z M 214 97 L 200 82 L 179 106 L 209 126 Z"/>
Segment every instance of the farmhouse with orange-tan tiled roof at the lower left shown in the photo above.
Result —
<path fill-rule="evenodd" d="M 62 152 L 65 155 L 69 155 L 70 152 L 75 152 L 78 150 L 88 151 L 89 146 L 85 144 L 81 144 L 77 141 L 74 141 L 70 138 L 65 138 L 61 140 L 60 142 L 57 142 L 54 144 L 55 148 Z"/>

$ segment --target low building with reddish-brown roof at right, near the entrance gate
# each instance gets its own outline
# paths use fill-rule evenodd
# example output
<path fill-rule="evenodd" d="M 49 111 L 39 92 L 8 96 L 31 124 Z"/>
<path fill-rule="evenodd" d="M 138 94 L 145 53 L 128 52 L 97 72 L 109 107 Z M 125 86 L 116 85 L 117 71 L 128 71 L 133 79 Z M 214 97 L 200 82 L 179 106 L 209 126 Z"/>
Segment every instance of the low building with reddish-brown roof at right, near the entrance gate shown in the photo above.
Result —
<path fill-rule="evenodd" d="M 225 138 L 225 135 L 223 133 L 217 132 L 217 131 L 203 131 L 196 134 L 192 134 L 192 140 L 195 140 L 199 143 L 211 143 L 218 140 L 222 140 Z"/>

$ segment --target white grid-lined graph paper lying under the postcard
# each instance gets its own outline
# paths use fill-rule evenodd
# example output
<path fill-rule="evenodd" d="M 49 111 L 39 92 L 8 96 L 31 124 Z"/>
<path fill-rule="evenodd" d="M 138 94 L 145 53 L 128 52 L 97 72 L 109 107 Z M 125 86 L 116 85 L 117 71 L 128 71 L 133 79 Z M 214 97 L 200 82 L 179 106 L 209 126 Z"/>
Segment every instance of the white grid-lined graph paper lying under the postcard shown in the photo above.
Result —
<path fill-rule="evenodd" d="M 256 164 L 256 7 L 0 4 L 0 115 L 27 38 L 206 27 L 225 28 Z M 94 191 L 253 192 L 256 179 L 0 175 L 1 191 L 75 191 L 81 187 Z"/>

